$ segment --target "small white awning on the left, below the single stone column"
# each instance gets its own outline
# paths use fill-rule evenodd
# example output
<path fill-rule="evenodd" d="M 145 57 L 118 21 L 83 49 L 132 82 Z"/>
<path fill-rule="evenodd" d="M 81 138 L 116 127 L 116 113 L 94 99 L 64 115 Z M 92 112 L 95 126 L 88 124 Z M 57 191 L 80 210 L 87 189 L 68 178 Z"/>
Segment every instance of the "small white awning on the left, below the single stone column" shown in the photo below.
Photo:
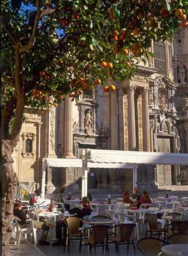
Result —
<path fill-rule="evenodd" d="M 82 167 L 81 159 L 69 158 L 45 158 L 49 167 Z"/>

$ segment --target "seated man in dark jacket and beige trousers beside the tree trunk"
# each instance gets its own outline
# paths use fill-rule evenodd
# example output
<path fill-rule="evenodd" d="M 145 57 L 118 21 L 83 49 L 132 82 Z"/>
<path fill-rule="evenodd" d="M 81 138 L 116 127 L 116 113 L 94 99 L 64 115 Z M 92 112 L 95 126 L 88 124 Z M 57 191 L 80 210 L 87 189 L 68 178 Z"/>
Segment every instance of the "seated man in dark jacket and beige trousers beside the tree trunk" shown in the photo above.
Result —
<path fill-rule="evenodd" d="M 29 216 L 22 210 L 21 208 L 21 202 L 16 201 L 15 206 L 14 206 L 14 211 L 13 214 L 15 217 L 18 217 L 20 221 L 18 221 L 18 224 L 20 225 L 21 228 L 25 227 L 30 227 L 30 222 L 27 220 L 29 219 Z M 51 223 L 49 222 L 42 222 L 42 221 L 33 221 L 34 228 L 42 229 L 42 235 L 41 239 L 39 241 L 40 245 L 49 245 L 49 242 L 47 242 L 47 236 L 48 236 L 48 231 L 49 231 L 49 226 Z"/>

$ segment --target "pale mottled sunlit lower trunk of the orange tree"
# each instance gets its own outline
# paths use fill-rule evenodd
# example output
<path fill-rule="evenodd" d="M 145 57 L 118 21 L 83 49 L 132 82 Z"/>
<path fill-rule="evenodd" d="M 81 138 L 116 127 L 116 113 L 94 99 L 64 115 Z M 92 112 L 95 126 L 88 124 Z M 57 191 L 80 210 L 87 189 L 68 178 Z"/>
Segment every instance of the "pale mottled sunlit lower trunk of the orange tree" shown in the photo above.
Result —
<path fill-rule="evenodd" d="M 18 178 L 13 170 L 12 151 L 14 145 L 10 140 L 2 140 L 2 251 L 9 256 L 9 243 L 12 233 L 12 216 Z"/>

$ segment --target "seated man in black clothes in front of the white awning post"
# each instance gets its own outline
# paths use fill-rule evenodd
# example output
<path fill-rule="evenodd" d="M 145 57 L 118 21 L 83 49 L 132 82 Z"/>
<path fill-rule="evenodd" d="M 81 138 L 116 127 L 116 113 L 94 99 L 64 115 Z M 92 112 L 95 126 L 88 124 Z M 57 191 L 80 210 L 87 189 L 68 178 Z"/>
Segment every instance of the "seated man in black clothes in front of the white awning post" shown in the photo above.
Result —
<path fill-rule="evenodd" d="M 70 210 L 71 214 L 75 213 L 75 217 L 78 218 L 83 218 L 84 216 L 90 215 L 91 214 L 91 208 L 89 206 L 89 199 L 87 198 L 87 196 L 82 198 L 82 206 L 83 208 L 80 210 L 78 208 L 74 208 Z M 62 238 L 62 227 L 63 227 L 63 236 L 64 239 L 66 237 L 66 224 L 64 221 L 64 218 L 59 219 L 59 221 L 56 221 L 56 238 L 58 239 L 58 241 L 56 241 L 55 243 L 53 243 L 53 246 L 59 246 L 63 244 L 63 238 Z"/>

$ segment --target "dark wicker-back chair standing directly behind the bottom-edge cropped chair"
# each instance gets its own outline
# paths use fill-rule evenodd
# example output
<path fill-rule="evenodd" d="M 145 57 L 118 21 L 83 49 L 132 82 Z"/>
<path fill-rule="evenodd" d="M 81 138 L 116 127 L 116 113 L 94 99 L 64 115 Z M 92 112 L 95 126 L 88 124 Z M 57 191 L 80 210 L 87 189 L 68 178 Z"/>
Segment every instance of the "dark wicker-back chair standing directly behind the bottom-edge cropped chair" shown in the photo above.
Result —
<path fill-rule="evenodd" d="M 146 236 L 148 235 L 148 232 L 150 233 L 150 237 L 152 237 L 153 233 L 158 235 L 158 238 L 160 237 L 160 234 L 164 232 L 163 228 L 158 227 L 157 223 L 157 214 L 147 214 L 146 220 L 148 221 L 149 227 L 146 231 Z"/>

